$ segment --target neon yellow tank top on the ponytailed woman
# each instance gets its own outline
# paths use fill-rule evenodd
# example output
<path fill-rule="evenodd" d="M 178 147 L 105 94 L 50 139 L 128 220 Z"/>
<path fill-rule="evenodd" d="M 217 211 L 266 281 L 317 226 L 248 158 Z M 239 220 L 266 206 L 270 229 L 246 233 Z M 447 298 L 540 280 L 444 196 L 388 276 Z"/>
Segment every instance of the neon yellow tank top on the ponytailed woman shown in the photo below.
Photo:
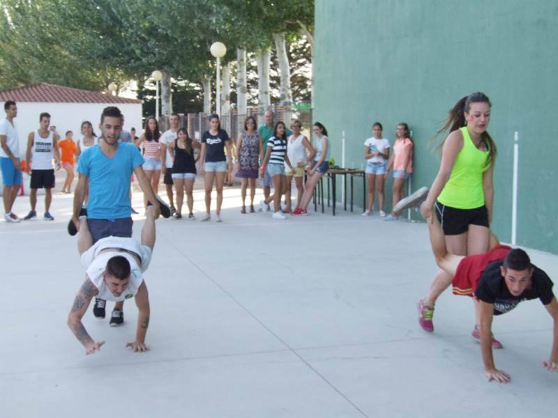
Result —
<path fill-rule="evenodd" d="M 460 131 L 463 148 L 455 159 L 451 176 L 438 201 L 451 208 L 480 208 L 485 204 L 483 173 L 490 168 L 490 164 L 486 164 L 490 151 L 476 148 L 466 126 L 461 127 Z"/>

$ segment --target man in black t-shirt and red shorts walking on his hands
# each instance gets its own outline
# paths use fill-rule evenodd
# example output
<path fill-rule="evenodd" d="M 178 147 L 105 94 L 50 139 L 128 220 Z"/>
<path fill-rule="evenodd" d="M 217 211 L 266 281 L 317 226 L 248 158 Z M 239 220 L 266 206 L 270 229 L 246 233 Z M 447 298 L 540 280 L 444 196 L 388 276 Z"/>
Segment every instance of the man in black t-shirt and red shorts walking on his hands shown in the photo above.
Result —
<path fill-rule="evenodd" d="M 552 281 L 548 275 L 532 265 L 522 249 L 499 245 L 495 235 L 491 235 L 490 251 L 485 254 L 467 257 L 451 254 L 446 248 L 444 231 L 437 217 L 429 216 L 426 221 L 436 263 L 451 276 L 451 280 L 446 279 L 444 274 L 438 274 L 427 297 L 418 302 L 421 327 L 430 332 L 434 330 L 434 303 L 450 284 L 456 295 L 476 297 L 481 306 L 480 339 L 485 375 L 489 381 L 505 383 L 510 381 L 510 376 L 496 369 L 492 357 L 492 318 L 511 311 L 523 300 L 538 298 L 554 320 L 552 351 L 543 367 L 548 371 L 558 371 L 558 302 L 552 293 Z"/>

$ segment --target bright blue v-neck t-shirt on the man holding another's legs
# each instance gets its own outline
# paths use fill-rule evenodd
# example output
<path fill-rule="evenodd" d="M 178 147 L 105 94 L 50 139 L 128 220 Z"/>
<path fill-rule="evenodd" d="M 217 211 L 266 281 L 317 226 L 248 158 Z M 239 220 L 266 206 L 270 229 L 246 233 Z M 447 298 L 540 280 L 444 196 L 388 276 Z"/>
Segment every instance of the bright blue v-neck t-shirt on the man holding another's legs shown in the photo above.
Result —
<path fill-rule="evenodd" d="M 135 167 L 144 159 L 133 144 L 117 142 L 116 153 L 107 157 L 100 146 L 86 149 L 80 156 L 77 171 L 89 177 L 87 217 L 121 219 L 130 217 L 130 180 Z"/>

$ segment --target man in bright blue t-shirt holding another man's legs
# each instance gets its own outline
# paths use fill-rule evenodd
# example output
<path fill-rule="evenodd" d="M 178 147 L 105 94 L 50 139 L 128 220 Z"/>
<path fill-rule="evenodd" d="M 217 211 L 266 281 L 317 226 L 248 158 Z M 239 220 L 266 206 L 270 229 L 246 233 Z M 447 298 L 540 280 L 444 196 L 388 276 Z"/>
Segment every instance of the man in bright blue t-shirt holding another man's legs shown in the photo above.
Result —
<path fill-rule="evenodd" d="M 155 217 L 161 213 L 169 217 L 170 210 L 158 199 L 149 179 L 146 177 L 142 164 L 144 158 L 134 144 L 118 141 L 122 131 L 123 116 L 117 107 L 105 107 L 100 118 L 99 128 L 102 132 L 98 145 L 85 150 L 77 165 L 79 178 L 74 192 L 73 217 L 68 224 L 68 233 L 75 235 L 80 225 L 80 214 L 87 215 L 87 224 L 93 243 L 109 236 L 132 236 L 132 217 L 130 202 L 130 180 L 135 174 L 142 191 L 150 202 L 159 201 L 154 205 Z M 82 205 L 85 187 L 89 182 L 89 201 L 87 209 Z M 105 318 L 105 300 L 96 299 L 93 315 Z M 123 302 L 116 302 L 111 326 L 119 326 L 124 322 Z"/>

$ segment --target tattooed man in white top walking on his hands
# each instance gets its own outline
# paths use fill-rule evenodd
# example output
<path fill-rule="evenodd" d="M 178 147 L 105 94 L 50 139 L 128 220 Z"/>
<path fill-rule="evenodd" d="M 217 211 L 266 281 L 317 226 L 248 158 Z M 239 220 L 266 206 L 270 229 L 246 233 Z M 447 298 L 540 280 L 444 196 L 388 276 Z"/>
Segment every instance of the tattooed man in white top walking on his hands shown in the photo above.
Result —
<path fill-rule="evenodd" d="M 126 344 L 126 347 L 135 352 L 149 350 L 145 345 L 145 335 L 149 327 L 149 297 L 142 274 L 149 267 L 155 247 L 155 217 L 153 206 L 148 206 L 141 244 L 133 238 L 115 236 L 101 238 L 93 244 L 87 219 L 80 218 L 77 251 L 80 252 L 86 274 L 84 284 L 77 292 L 68 315 L 68 327 L 83 344 L 86 354 L 95 353 L 105 343 L 93 341 L 82 323 L 94 296 L 114 302 L 123 302 L 134 297 L 138 309 L 136 337 L 135 341 Z"/>

